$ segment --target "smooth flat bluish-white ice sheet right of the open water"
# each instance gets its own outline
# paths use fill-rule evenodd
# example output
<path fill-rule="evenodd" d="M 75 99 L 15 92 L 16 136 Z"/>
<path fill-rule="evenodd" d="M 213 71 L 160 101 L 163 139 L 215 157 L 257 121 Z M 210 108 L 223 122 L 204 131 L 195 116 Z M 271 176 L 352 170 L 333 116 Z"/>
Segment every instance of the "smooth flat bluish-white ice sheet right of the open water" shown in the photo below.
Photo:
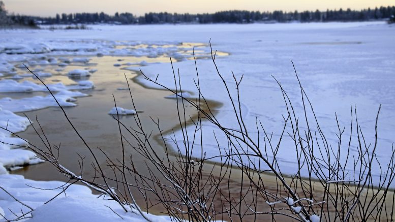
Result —
<path fill-rule="evenodd" d="M 364 136 L 370 142 L 374 142 L 376 112 L 379 104 L 383 104 L 378 122 L 380 145 L 377 155 L 380 162 L 388 161 L 385 153 L 391 150 L 392 132 L 395 130 L 392 111 L 395 108 L 395 99 L 391 96 L 395 93 L 393 87 L 395 45 L 390 44 L 390 37 L 395 35 L 395 29 L 388 28 L 384 22 L 195 27 L 181 25 L 157 26 L 157 28 L 157 31 L 164 31 L 163 39 L 204 43 L 211 38 L 214 50 L 231 53 L 227 57 L 217 57 L 216 62 L 235 98 L 237 95 L 232 71 L 237 80 L 244 75 L 240 84 L 240 107 L 252 138 L 257 137 L 255 122 L 257 118 L 267 132 L 274 132 L 273 141 L 278 141 L 282 132 L 284 122 L 282 115 L 286 115 L 286 107 L 281 90 L 272 75 L 281 82 L 293 101 L 294 108 L 300 116 L 303 116 L 300 89 L 291 64 L 292 59 L 301 84 L 313 104 L 321 129 L 333 147 L 337 146 L 338 130 L 335 112 L 341 126 L 346 127 L 344 135 L 349 136 L 350 104 L 356 104 L 358 120 L 363 119 Z M 147 32 L 147 30 L 141 31 Z M 166 35 L 167 33 L 169 35 Z M 135 36 L 135 38 L 139 37 Z M 196 62 L 203 95 L 206 99 L 223 104 L 217 119 L 225 127 L 237 129 L 233 108 L 212 61 L 197 59 Z M 173 66 L 175 71 L 179 70 L 183 89 L 198 94 L 194 82 L 197 80 L 194 61 L 174 62 Z M 136 67 L 127 69 L 138 70 Z M 169 64 L 149 64 L 141 70 L 154 80 L 159 74 L 157 79 L 159 83 L 175 89 L 173 70 Z M 159 87 L 146 81 L 142 75 L 136 80 L 148 87 Z M 300 126 L 306 129 L 305 126 L 301 124 Z M 203 149 L 206 157 L 219 154 L 217 149 L 212 148 L 217 146 L 213 131 L 219 143 L 224 144 L 224 149 L 227 148 L 227 137 L 215 126 L 203 122 L 202 129 L 203 144 L 195 144 L 195 146 L 206 147 Z M 194 128 L 191 126 L 189 130 L 192 134 Z M 290 131 L 289 128 L 287 130 Z M 180 144 L 183 136 L 180 132 L 175 136 Z M 169 138 L 168 142 L 172 143 L 171 141 Z M 353 140 L 353 143 L 356 144 L 357 141 Z M 296 151 L 291 147 L 293 147 L 292 141 L 286 136 L 277 154 L 280 167 L 285 174 L 293 174 L 297 169 L 294 158 Z M 201 156 L 200 150 L 194 149 L 193 155 Z M 319 152 L 318 149 L 315 151 Z M 355 147 L 352 147 L 351 152 L 352 155 L 357 154 Z M 375 164 L 374 172 L 379 169 Z M 377 174 L 378 172 L 374 173 L 375 177 Z"/>

